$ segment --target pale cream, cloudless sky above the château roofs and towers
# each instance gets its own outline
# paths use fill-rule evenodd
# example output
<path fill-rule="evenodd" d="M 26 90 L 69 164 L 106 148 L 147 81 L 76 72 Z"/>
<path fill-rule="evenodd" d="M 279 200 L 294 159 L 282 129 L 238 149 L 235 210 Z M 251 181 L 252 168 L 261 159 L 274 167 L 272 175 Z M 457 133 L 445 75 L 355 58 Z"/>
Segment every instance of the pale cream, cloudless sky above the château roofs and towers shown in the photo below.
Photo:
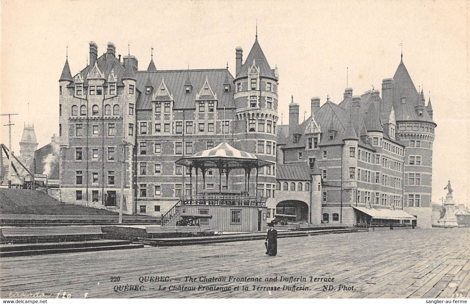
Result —
<path fill-rule="evenodd" d="M 235 73 L 235 47 L 248 55 L 255 39 L 279 68 L 279 114 L 289 121 L 290 96 L 300 120 L 310 98 L 335 103 L 346 87 L 360 95 L 392 78 L 403 61 L 415 86 L 431 97 L 435 131 L 432 198 L 468 204 L 468 1 L 22 1 L 1 0 L 0 113 L 12 116 L 13 151 L 24 123 L 34 123 L 39 147 L 58 133 L 58 79 L 68 46 L 72 75 L 86 66 L 88 43 L 139 60 L 154 48 L 157 69 L 225 68 Z M 400 46 L 400 43 L 402 46 Z M 348 76 L 346 77 L 346 70 Z M 346 83 L 346 78 L 348 79 Z M 29 105 L 28 105 L 29 104 Z M 29 109 L 29 110 L 28 110 Z M 8 116 L 0 142 L 8 145 Z"/>

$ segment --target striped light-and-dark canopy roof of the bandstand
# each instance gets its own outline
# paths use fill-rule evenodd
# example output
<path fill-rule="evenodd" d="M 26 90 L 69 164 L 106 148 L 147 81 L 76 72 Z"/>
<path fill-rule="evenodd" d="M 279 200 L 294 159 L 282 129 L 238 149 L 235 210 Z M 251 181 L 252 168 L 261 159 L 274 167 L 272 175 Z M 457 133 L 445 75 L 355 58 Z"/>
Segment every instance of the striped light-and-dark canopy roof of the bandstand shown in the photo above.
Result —
<path fill-rule="evenodd" d="M 176 164 L 196 168 L 256 168 L 274 165 L 274 162 L 260 160 L 254 154 L 235 149 L 222 142 L 212 149 L 196 152 L 176 161 Z"/>

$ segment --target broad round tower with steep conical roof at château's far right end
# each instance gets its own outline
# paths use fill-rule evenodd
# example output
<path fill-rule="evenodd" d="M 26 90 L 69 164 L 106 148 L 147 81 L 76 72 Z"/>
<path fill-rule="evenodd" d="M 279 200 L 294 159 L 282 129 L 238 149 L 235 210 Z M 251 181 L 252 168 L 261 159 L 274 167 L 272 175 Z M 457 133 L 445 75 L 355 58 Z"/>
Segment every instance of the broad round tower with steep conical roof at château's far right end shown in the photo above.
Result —
<path fill-rule="evenodd" d="M 431 228 L 432 143 L 437 124 L 423 91 L 416 90 L 401 59 L 392 79 L 382 84 L 381 117 L 395 114 L 395 138 L 405 145 L 403 209 L 417 217 L 417 226 Z"/>

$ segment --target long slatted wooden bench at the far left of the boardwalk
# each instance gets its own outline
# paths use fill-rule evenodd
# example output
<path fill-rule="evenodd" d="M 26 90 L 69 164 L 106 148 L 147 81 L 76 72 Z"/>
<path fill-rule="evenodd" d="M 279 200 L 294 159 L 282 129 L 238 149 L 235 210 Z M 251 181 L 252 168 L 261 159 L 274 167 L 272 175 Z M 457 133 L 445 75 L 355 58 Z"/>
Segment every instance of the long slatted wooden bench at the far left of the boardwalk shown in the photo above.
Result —
<path fill-rule="evenodd" d="M 102 232 L 99 226 L 63 226 L 63 227 L 4 227 L 1 228 L 1 234 L 6 240 L 10 238 L 11 243 L 13 239 L 24 239 L 24 238 L 36 238 L 36 243 L 39 243 L 39 238 L 47 238 L 48 236 L 58 236 L 59 242 L 61 236 L 64 237 L 64 241 L 67 241 L 67 236 L 70 239 L 77 239 L 78 236 L 82 236 L 83 239 L 96 239 L 97 236 L 102 236 L 105 233 Z M 89 236 L 89 237 L 88 237 Z M 95 237 L 92 237 L 95 236 Z M 80 238 L 79 238 L 80 239 Z"/>

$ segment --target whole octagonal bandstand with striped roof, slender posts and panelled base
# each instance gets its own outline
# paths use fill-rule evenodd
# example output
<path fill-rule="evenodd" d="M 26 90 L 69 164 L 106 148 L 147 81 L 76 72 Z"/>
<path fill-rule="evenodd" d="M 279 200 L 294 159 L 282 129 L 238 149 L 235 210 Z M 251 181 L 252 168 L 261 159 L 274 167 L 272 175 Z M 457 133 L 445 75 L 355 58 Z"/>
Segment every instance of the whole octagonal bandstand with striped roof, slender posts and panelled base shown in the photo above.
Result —
<path fill-rule="evenodd" d="M 189 179 L 193 185 L 193 169 L 196 173 L 195 195 L 180 197 L 176 205 L 163 217 L 162 226 L 176 226 L 188 221 L 182 220 L 184 213 L 201 214 L 197 221 L 200 226 L 217 227 L 221 231 L 246 231 L 256 232 L 266 229 L 266 198 L 250 195 L 251 172 L 256 171 L 258 184 L 258 171 L 265 166 L 274 163 L 258 159 L 254 154 L 240 151 L 226 142 L 222 142 L 214 148 L 197 152 L 190 157 L 184 157 L 175 162 L 187 167 L 190 172 Z M 219 171 L 219 189 L 205 189 L 205 174 L 208 169 Z M 244 189 L 233 189 L 234 185 L 228 184 L 230 172 L 234 169 L 242 169 L 245 175 Z M 198 175 L 203 177 L 202 190 L 197 184 Z M 222 189 L 223 177 L 225 188 Z M 256 189 L 253 190 L 256 193 Z M 196 221 L 193 221 L 196 222 Z"/>

